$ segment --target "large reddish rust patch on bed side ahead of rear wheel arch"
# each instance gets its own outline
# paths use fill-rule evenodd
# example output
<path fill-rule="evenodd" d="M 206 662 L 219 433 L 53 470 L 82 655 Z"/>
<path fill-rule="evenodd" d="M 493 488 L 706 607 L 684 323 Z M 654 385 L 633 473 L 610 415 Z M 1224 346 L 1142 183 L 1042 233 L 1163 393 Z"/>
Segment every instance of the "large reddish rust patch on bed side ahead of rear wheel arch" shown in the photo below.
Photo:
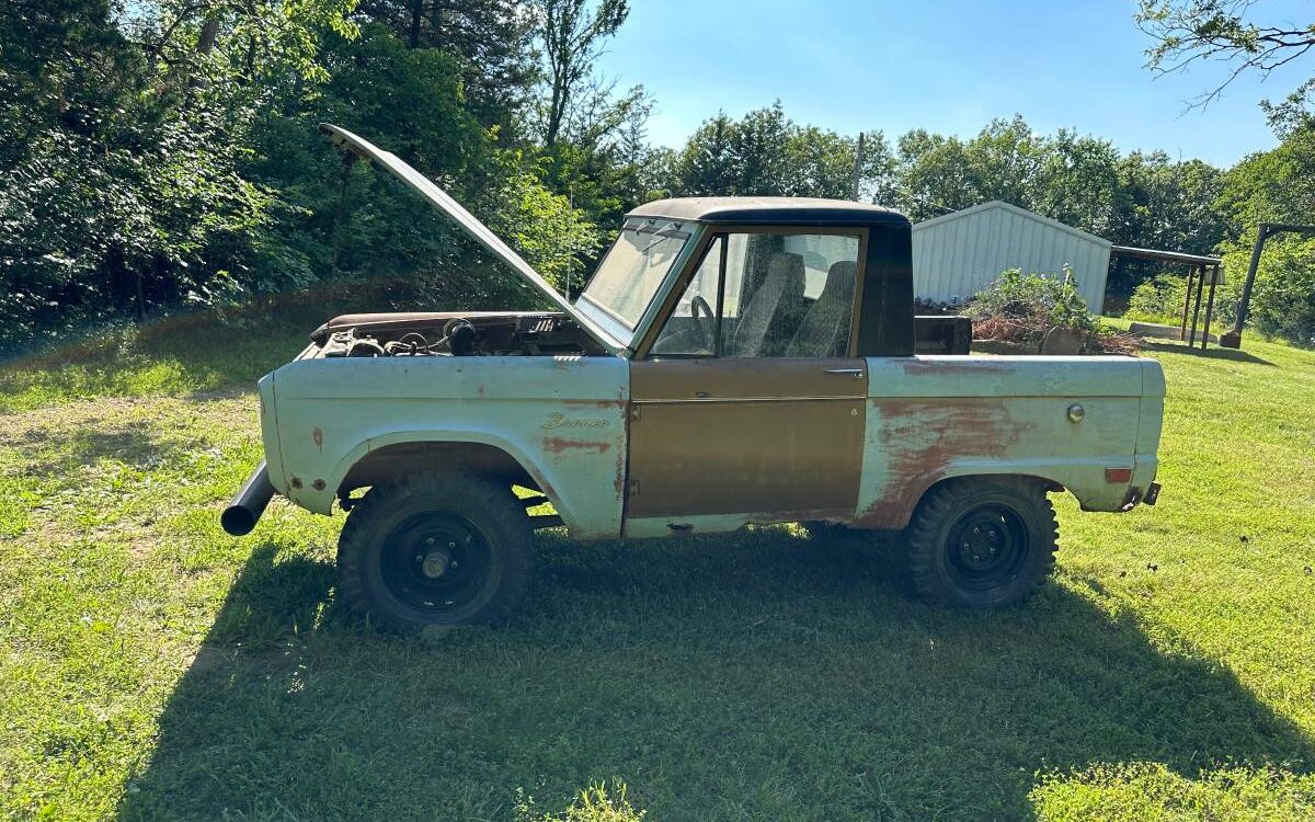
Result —
<path fill-rule="evenodd" d="M 856 525 L 899 529 L 953 460 L 1003 458 L 1031 429 L 1002 400 L 885 400 L 878 402 L 877 439 L 888 456 L 884 493 Z"/>

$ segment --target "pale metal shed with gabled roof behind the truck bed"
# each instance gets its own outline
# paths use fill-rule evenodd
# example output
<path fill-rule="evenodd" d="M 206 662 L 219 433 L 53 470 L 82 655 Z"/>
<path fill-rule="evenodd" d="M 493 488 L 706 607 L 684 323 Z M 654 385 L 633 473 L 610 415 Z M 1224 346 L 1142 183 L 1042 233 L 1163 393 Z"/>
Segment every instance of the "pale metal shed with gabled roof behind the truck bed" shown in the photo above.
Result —
<path fill-rule="evenodd" d="M 992 200 L 913 226 L 914 293 L 961 302 L 1001 271 L 1060 274 L 1068 264 L 1086 306 L 1101 313 L 1111 246 L 1095 234 Z"/>

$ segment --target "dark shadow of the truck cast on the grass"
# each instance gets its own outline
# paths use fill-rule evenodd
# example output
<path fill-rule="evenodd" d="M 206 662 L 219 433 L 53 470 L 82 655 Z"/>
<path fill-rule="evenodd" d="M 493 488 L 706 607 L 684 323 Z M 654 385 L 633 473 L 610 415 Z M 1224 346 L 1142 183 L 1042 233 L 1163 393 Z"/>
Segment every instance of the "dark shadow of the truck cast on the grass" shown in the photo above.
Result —
<path fill-rule="evenodd" d="M 1027 818 L 1036 773 L 1304 771 L 1223 665 L 1152 644 L 1082 580 L 953 613 L 880 547 L 784 527 L 539 546 L 510 626 L 427 641 L 339 613 L 329 564 L 255 548 L 121 819 L 512 819 L 625 779 L 651 818 Z"/>

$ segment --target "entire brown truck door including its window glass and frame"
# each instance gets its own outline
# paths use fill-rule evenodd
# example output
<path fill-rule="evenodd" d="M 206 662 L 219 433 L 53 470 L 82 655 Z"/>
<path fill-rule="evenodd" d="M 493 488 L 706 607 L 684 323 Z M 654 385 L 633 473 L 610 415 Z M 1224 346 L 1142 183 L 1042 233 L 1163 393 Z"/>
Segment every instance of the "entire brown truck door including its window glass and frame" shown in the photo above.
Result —
<path fill-rule="evenodd" d="M 631 363 L 626 517 L 852 520 L 868 375 L 863 235 L 717 235 Z"/>

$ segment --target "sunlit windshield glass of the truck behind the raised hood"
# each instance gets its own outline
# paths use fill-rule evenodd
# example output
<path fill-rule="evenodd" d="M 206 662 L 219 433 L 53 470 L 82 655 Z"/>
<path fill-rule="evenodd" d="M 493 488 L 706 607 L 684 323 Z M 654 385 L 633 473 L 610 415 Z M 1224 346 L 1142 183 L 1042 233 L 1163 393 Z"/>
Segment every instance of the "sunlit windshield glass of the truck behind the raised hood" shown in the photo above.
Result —
<path fill-rule="evenodd" d="M 634 330 L 648 302 L 689 241 L 671 220 L 630 220 L 580 295 Z"/>

